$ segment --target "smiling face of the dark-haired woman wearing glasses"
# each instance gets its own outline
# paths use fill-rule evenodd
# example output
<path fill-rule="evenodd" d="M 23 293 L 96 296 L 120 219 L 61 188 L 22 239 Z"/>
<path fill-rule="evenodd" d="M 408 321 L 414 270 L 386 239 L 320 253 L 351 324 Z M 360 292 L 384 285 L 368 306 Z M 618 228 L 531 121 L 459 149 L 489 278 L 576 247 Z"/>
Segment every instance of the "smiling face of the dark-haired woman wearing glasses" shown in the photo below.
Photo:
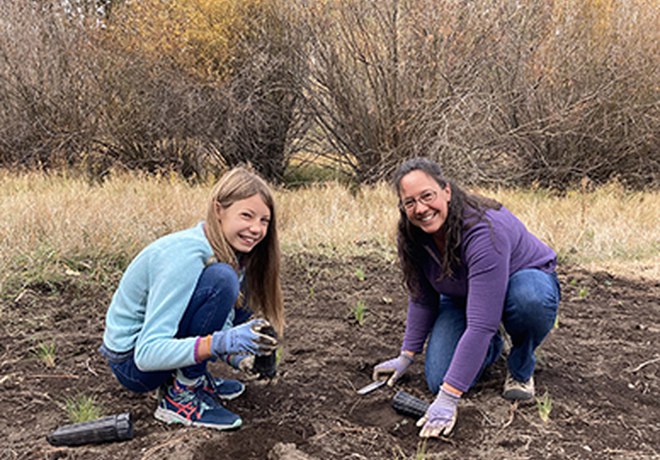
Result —
<path fill-rule="evenodd" d="M 437 233 L 447 220 L 451 188 L 440 187 L 420 170 L 406 174 L 399 181 L 399 199 L 410 222 L 428 234 Z"/>

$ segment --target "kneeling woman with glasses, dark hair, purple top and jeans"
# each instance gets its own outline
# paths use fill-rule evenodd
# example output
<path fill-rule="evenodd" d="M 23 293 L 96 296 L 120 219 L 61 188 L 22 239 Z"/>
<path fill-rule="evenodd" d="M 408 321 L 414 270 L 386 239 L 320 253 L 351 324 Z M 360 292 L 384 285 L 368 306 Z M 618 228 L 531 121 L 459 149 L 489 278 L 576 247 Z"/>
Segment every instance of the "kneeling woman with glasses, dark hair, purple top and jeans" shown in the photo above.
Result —
<path fill-rule="evenodd" d="M 409 291 L 401 354 L 378 364 L 374 379 L 401 377 L 426 346 L 426 380 L 437 393 L 419 420 L 422 437 L 448 435 L 458 401 L 511 336 L 503 396 L 534 397 L 534 349 L 559 304 L 556 254 L 501 204 L 468 194 L 424 158 L 403 163 L 399 259 Z"/>

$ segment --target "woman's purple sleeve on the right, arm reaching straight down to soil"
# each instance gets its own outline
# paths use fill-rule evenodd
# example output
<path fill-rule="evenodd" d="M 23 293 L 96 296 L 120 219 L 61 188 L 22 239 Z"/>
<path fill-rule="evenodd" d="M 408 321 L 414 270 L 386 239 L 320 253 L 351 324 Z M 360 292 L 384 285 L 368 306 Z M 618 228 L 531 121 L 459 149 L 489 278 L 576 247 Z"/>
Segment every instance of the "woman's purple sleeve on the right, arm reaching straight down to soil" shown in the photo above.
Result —
<path fill-rule="evenodd" d="M 500 230 L 505 231 L 505 230 Z M 467 328 L 458 342 L 445 382 L 467 391 L 486 357 L 490 340 L 502 318 L 509 280 L 511 243 L 487 223 L 465 235 L 468 267 Z"/>

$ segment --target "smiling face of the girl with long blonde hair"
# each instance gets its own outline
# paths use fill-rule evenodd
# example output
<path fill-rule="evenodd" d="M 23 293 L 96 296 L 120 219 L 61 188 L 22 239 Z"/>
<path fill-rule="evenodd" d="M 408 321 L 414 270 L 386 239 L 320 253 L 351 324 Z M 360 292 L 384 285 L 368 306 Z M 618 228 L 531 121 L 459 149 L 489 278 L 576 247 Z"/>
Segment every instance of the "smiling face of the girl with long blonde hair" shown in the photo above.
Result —
<path fill-rule="evenodd" d="M 220 228 L 236 252 L 250 252 L 268 233 L 270 208 L 258 193 L 223 208 L 219 204 Z"/>

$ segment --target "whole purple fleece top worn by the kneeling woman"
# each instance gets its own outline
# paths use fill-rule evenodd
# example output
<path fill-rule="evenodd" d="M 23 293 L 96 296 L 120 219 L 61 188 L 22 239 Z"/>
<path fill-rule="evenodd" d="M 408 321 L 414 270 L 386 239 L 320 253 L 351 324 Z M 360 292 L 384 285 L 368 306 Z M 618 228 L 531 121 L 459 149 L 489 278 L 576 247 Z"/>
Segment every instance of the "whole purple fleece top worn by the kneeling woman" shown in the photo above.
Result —
<path fill-rule="evenodd" d="M 438 281 L 441 255 L 428 236 L 426 257 L 419 261 L 424 273 L 421 292 L 408 302 L 402 349 L 419 353 L 438 316 L 440 294 L 466 299 L 467 328 L 444 380 L 461 391 L 467 391 L 474 381 L 497 332 L 509 277 L 526 268 L 551 273 L 557 265 L 555 252 L 509 210 L 491 209 L 486 217 L 490 226 L 482 219 L 463 231 L 462 266 L 452 278 Z"/>

